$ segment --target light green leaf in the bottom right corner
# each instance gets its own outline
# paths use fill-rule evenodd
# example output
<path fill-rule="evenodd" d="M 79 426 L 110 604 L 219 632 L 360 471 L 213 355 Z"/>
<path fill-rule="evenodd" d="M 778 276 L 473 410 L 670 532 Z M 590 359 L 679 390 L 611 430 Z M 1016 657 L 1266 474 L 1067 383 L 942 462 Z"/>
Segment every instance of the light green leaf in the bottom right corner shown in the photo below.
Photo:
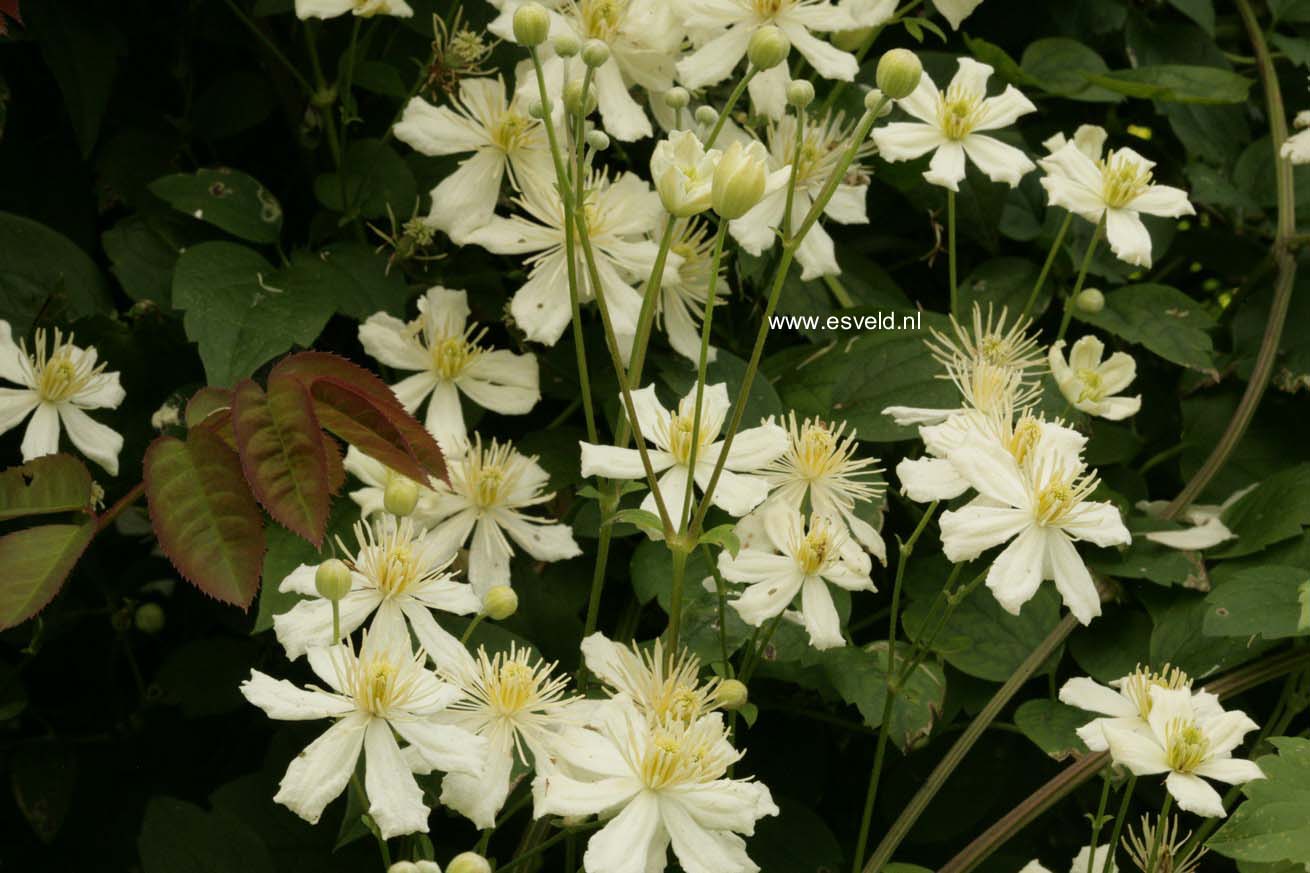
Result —
<path fill-rule="evenodd" d="M 1242 785 L 1246 800 L 1209 839 L 1239 861 L 1306 864 L 1310 859 L 1310 739 L 1275 737 L 1279 750 L 1256 763 L 1265 779 Z"/>

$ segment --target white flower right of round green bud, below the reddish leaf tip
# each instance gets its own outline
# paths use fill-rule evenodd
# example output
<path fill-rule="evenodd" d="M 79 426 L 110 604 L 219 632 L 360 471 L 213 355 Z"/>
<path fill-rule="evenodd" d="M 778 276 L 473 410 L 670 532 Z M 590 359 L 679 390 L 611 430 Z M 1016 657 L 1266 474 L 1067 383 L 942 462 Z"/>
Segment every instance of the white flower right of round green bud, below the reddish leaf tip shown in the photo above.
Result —
<path fill-rule="evenodd" d="M 482 438 L 458 455 L 447 457 L 451 484 L 432 484 L 436 501 L 431 536 L 440 548 L 453 552 L 470 536 L 469 582 L 478 596 L 498 585 L 510 585 L 514 540 L 538 561 L 565 561 L 582 554 L 567 524 L 527 515 L 521 510 L 554 498 L 542 493 L 550 477 L 536 456 L 524 456 L 510 443 Z M 508 536 L 508 539 L 507 539 Z"/>

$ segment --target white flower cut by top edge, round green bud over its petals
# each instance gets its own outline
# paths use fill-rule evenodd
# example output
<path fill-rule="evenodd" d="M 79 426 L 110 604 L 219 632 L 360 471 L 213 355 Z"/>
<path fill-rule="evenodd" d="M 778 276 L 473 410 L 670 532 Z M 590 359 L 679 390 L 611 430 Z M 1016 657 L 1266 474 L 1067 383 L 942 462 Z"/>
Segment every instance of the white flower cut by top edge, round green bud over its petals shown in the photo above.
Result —
<path fill-rule="evenodd" d="M 747 54 L 751 35 L 766 25 L 781 30 L 824 79 L 853 81 L 859 71 L 854 55 L 814 35 L 858 26 L 850 13 L 828 0 L 685 0 L 683 16 L 688 30 L 706 35 L 694 52 L 677 63 L 679 79 L 693 90 L 731 76 Z M 756 110 L 781 118 L 789 81 L 786 63 L 756 75 L 748 85 Z"/>

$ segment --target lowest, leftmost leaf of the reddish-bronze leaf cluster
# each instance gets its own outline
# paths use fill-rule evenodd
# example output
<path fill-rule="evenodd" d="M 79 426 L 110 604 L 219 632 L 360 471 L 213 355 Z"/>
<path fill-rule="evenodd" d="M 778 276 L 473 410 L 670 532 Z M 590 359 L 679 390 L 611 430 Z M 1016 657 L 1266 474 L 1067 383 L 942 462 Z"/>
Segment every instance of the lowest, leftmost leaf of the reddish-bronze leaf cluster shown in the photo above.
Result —
<path fill-rule="evenodd" d="M 145 451 L 145 498 L 173 566 L 216 600 L 245 610 L 259 589 L 263 518 L 241 460 L 206 429 Z"/>

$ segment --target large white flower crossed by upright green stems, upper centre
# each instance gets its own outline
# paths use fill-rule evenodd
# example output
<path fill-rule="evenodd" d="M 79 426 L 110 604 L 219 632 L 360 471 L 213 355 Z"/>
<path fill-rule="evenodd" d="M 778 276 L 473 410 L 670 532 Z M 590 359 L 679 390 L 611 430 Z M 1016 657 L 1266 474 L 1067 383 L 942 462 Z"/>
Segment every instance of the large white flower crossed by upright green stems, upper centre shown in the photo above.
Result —
<path fill-rule="evenodd" d="M 528 282 L 510 300 L 510 315 L 528 340 L 553 346 L 572 321 L 569 300 L 569 265 L 565 249 L 563 203 L 554 186 L 529 185 L 517 201 L 528 216 L 493 218 L 489 224 L 468 236 L 468 242 L 496 254 L 531 254 Z M 646 279 L 655 263 L 658 246 L 648 239 L 664 215 L 659 195 L 633 173 L 617 180 L 596 174 L 584 195 L 583 215 L 587 222 L 596 273 L 605 303 L 614 321 L 614 332 L 631 349 L 637 333 L 641 295 L 633 284 Z M 591 275 L 576 254 L 578 296 L 586 303 L 595 299 Z M 669 256 L 665 278 L 680 266 Z"/>

